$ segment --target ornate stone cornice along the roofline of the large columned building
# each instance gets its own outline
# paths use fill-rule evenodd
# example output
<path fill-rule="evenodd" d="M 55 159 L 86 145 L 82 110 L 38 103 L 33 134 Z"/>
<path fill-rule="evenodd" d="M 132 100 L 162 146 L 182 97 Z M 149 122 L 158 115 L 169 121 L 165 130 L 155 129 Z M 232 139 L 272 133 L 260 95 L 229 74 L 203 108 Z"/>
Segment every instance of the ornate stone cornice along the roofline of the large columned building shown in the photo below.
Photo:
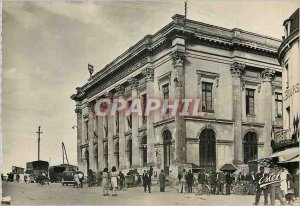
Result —
<path fill-rule="evenodd" d="M 91 98 L 120 79 L 126 78 L 147 62 L 150 62 L 150 57 L 155 55 L 157 50 L 165 45 L 170 47 L 170 41 L 176 35 L 181 35 L 187 40 L 200 40 L 212 47 L 217 46 L 220 48 L 222 46 L 222 48 L 226 47 L 231 51 L 242 48 L 251 50 L 251 52 L 258 52 L 264 56 L 275 56 L 280 44 L 280 40 L 271 37 L 240 29 L 217 27 L 185 19 L 182 15 L 175 15 L 171 23 L 154 35 L 147 35 L 105 68 L 98 71 L 71 98 L 75 101 L 81 101 L 86 97 Z M 184 58 L 176 53 L 172 56 L 174 66 L 183 66 Z"/>

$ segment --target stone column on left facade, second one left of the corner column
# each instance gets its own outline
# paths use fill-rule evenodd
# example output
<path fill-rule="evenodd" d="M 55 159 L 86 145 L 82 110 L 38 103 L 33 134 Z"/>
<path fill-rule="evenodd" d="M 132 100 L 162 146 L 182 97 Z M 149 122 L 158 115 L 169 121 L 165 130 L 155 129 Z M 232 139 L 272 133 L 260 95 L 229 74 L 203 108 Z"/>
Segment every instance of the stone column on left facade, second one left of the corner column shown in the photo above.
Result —
<path fill-rule="evenodd" d="M 132 103 L 135 99 L 138 99 L 138 80 L 135 77 L 132 77 L 129 80 L 129 83 L 131 85 L 132 93 L 131 93 L 131 99 Z M 138 127 L 139 127 L 139 120 L 138 120 L 138 114 L 132 113 L 132 167 L 137 168 L 140 167 L 140 161 L 139 161 L 139 137 L 138 137 Z"/>

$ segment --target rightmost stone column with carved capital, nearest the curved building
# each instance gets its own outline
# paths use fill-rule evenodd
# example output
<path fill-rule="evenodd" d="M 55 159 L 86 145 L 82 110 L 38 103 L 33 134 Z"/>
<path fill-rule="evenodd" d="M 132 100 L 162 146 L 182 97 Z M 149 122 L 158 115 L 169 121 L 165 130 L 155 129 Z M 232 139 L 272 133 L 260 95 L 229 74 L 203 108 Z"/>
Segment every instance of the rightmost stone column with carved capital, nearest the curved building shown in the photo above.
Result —
<path fill-rule="evenodd" d="M 271 131 L 272 131 L 272 80 L 274 77 L 275 71 L 271 69 L 265 69 L 261 73 L 262 77 L 262 94 L 263 94 L 263 107 L 264 107 L 264 123 L 265 127 L 263 130 L 263 137 L 264 137 L 264 147 L 263 151 L 264 154 L 262 156 L 268 156 L 272 154 L 272 147 L 271 147 Z M 260 156 L 261 156 L 260 155 Z"/>

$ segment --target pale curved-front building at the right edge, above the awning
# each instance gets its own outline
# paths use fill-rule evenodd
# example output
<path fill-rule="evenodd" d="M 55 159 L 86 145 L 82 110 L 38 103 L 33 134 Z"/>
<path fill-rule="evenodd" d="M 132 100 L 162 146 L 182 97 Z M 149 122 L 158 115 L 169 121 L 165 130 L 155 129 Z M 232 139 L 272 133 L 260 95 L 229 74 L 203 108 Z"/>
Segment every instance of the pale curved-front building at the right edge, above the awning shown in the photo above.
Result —
<path fill-rule="evenodd" d="M 285 36 L 278 49 L 282 66 L 283 130 L 275 134 L 274 151 L 299 146 L 300 136 L 300 68 L 299 9 L 283 23 Z"/>

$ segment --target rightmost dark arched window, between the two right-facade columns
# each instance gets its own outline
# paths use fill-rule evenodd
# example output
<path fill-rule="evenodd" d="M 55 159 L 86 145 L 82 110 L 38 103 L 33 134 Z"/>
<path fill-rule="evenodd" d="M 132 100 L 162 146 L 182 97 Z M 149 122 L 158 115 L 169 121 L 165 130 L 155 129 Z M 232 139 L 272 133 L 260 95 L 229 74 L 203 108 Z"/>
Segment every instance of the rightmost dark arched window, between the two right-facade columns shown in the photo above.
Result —
<path fill-rule="evenodd" d="M 244 137 L 244 163 L 257 159 L 257 134 L 247 132 Z"/>

